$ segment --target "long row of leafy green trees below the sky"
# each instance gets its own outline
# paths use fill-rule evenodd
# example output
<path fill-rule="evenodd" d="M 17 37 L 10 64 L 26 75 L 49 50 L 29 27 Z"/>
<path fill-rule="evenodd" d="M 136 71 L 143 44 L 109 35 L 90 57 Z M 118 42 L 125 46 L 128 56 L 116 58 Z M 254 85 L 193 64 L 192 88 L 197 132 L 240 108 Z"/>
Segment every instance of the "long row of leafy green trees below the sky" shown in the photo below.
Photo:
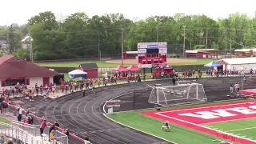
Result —
<path fill-rule="evenodd" d="M 9 53 L 30 59 L 29 49 L 22 49 L 22 38 L 33 38 L 34 60 L 98 58 L 121 55 L 124 50 L 137 50 L 138 42 L 167 42 L 169 53 L 180 49 L 185 36 L 186 50 L 215 49 L 230 52 L 256 46 L 256 17 L 230 14 L 214 20 L 204 14 L 152 16 L 144 20 L 125 18 L 123 14 L 94 15 L 78 12 L 56 18 L 51 11 L 33 16 L 23 26 L 0 27 Z M 231 48 L 231 49 L 230 49 Z"/>

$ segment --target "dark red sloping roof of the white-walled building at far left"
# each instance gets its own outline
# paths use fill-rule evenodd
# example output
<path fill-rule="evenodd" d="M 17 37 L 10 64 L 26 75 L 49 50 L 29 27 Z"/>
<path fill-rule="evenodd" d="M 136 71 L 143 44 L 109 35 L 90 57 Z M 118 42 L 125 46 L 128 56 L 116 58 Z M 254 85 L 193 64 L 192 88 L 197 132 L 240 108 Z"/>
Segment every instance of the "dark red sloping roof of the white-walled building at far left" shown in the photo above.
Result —
<path fill-rule="evenodd" d="M 54 75 L 58 75 L 58 73 L 14 55 L 4 55 L 0 58 L 0 78 L 50 77 Z"/>

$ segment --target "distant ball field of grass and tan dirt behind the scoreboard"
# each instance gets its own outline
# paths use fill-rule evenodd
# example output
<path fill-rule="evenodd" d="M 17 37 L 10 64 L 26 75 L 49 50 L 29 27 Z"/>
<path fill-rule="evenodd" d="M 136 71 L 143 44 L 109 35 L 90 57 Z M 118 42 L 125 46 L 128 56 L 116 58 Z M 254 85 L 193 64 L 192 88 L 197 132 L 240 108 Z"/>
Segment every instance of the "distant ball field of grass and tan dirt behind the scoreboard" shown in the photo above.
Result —
<path fill-rule="evenodd" d="M 168 64 L 170 66 L 181 66 L 181 65 L 204 65 L 213 61 L 211 58 L 170 58 Z M 128 62 L 130 61 L 130 62 Z M 72 61 L 72 62 L 38 62 L 38 66 L 52 66 L 52 67 L 78 67 L 81 63 L 97 63 L 98 67 L 115 67 L 121 64 L 121 60 L 111 61 Z M 137 61 L 134 59 L 128 59 L 124 62 L 124 66 L 130 66 L 131 64 L 137 65 Z"/>

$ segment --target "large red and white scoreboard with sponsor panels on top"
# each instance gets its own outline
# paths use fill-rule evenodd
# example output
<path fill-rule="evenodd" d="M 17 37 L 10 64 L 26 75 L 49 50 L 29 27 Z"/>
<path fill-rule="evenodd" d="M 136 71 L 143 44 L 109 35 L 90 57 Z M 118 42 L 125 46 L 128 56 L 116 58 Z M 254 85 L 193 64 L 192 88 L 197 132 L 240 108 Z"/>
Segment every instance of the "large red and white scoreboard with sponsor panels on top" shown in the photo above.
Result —
<path fill-rule="evenodd" d="M 167 62 L 167 42 L 139 42 L 138 67 L 164 67 Z"/>

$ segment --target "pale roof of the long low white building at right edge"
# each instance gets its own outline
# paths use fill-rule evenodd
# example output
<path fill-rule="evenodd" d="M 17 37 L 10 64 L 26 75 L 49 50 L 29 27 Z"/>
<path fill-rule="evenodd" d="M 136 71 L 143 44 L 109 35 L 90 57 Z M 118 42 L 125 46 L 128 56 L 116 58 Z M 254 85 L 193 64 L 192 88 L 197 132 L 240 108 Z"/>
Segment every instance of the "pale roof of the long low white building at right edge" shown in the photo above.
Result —
<path fill-rule="evenodd" d="M 242 65 L 248 63 L 256 63 L 256 57 L 250 58 L 223 58 L 222 61 L 230 64 L 230 65 Z M 219 61 L 221 61 L 219 60 Z"/>

